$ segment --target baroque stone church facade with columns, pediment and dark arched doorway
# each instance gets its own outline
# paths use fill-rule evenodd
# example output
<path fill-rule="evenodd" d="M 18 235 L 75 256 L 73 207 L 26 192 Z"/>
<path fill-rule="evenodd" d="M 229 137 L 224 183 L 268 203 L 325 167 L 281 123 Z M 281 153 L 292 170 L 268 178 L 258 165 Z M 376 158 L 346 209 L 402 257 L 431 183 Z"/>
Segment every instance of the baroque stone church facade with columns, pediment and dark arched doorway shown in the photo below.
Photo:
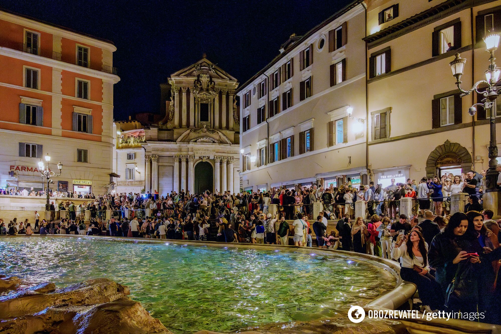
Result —
<path fill-rule="evenodd" d="M 165 117 L 145 129 L 145 191 L 239 191 L 238 81 L 205 56 L 162 85 Z"/>

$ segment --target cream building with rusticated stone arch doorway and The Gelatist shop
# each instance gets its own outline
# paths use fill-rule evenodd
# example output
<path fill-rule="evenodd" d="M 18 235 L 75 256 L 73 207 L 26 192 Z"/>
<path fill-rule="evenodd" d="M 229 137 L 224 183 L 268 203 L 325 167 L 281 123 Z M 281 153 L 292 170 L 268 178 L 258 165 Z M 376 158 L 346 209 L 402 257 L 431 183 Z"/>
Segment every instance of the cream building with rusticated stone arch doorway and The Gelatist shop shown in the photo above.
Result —
<path fill-rule="evenodd" d="M 474 117 L 468 114 L 479 98 L 459 96 L 449 62 L 455 53 L 467 59 L 463 89 L 485 79 L 489 54 L 482 38 L 501 29 L 499 6 L 501 1 L 368 2 L 368 160 L 374 181 L 488 168 L 486 113 L 478 108 Z M 377 123 L 381 119 L 385 126 Z M 497 127 L 498 138 L 500 132 Z"/>

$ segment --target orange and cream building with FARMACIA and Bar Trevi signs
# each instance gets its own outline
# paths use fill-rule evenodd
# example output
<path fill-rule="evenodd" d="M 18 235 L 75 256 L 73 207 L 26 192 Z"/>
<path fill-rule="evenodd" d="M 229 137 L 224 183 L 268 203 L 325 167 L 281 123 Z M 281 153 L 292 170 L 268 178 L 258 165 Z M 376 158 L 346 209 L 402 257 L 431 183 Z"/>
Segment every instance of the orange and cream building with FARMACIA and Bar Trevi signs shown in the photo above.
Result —
<path fill-rule="evenodd" d="M 106 192 L 114 51 L 110 41 L 0 10 L 0 188 L 44 189 L 31 167 L 49 154 L 64 165 L 53 191 Z"/>

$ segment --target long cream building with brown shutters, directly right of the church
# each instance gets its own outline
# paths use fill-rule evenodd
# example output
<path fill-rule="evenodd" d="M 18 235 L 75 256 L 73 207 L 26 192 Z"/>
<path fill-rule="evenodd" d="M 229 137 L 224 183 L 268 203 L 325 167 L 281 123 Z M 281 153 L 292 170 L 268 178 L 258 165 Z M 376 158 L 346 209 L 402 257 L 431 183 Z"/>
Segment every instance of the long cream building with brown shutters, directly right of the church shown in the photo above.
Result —
<path fill-rule="evenodd" d="M 367 182 L 364 36 L 355 2 L 239 88 L 243 190 Z"/>

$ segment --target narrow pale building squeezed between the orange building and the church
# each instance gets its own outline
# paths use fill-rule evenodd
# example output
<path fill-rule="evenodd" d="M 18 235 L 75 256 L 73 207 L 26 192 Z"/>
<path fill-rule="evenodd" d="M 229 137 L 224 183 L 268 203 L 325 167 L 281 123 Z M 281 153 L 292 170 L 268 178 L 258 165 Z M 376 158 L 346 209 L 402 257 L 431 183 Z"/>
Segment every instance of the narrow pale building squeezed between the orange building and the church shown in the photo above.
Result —
<path fill-rule="evenodd" d="M 113 171 L 117 177 L 115 192 L 144 193 L 144 127 L 136 120 L 114 122 Z"/>

